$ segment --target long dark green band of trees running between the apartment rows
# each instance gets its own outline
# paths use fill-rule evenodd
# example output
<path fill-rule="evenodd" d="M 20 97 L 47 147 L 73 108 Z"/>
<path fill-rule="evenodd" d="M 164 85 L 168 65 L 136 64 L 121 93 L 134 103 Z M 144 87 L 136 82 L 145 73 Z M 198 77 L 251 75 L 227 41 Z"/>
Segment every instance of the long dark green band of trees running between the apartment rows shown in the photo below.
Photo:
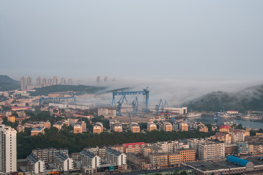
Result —
<path fill-rule="evenodd" d="M 165 132 L 151 131 L 144 133 L 128 132 L 103 132 L 99 135 L 93 133 L 74 134 L 70 128 L 58 131 L 57 128 L 51 127 L 45 129 L 45 135 L 29 136 L 29 132 L 17 133 L 17 158 L 27 157 L 33 149 L 36 148 L 67 148 L 69 153 L 80 152 L 85 147 L 96 147 L 98 145 L 115 145 L 131 142 L 154 142 L 168 141 L 176 139 L 205 138 L 214 135 L 214 132 Z"/>

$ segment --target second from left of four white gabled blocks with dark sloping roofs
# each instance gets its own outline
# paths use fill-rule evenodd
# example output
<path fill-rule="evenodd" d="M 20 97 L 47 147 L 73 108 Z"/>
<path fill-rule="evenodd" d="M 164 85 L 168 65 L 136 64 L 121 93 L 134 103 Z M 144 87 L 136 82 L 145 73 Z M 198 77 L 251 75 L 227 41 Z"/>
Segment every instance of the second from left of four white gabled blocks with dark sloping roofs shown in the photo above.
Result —
<path fill-rule="evenodd" d="M 58 151 L 54 154 L 55 166 L 60 171 L 71 171 L 73 170 L 73 159 L 66 156 L 62 152 Z"/>

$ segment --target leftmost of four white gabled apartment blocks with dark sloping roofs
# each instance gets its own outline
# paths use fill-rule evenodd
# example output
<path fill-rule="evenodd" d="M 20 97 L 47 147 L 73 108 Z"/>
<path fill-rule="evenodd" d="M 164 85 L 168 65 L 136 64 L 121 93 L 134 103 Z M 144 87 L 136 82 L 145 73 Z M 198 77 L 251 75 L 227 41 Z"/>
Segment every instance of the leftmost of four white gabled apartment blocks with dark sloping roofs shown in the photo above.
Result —
<path fill-rule="evenodd" d="M 40 174 L 45 172 L 45 162 L 39 157 L 31 153 L 27 157 L 27 168 L 31 171 L 32 174 Z"/>

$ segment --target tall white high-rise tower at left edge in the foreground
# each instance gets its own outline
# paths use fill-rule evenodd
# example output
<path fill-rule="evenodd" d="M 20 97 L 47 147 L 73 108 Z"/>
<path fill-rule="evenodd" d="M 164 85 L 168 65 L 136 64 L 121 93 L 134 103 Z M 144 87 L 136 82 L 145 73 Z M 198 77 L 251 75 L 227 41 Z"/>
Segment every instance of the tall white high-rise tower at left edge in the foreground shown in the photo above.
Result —
<path fill-rule="evenodd" d="M 16 172 L 16 130 L 0 124 L 0 173 Z"/>

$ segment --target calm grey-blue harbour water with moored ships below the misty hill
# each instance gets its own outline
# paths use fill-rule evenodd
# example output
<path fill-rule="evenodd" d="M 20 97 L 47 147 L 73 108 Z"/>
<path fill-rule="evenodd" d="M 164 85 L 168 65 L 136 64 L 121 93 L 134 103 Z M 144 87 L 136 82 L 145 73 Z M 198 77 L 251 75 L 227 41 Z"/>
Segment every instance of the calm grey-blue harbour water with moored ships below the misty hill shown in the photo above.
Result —
<path fill-rule="evenodd" d="M 176 119 L 177 122 L 186 122 L 186 123 L 192 123 L 192 122 L 201 122 L 201 123 L 210 123 L 214 124 L 214 116 L 201 116 L 201 117 L 193 117 L 193 118 L 182 118 L 182 119 Z M 229 118 L 219 118 L 218 125 L 224 124 L 224 122 L 229 122 Z M 235 123 L 238 125 L 241 123 L 243 127 L 250 127 L 250 128 L 263 128 L 263 120 L 242 120 L 240 118 L 231 119 L 231 123 Z"/>

